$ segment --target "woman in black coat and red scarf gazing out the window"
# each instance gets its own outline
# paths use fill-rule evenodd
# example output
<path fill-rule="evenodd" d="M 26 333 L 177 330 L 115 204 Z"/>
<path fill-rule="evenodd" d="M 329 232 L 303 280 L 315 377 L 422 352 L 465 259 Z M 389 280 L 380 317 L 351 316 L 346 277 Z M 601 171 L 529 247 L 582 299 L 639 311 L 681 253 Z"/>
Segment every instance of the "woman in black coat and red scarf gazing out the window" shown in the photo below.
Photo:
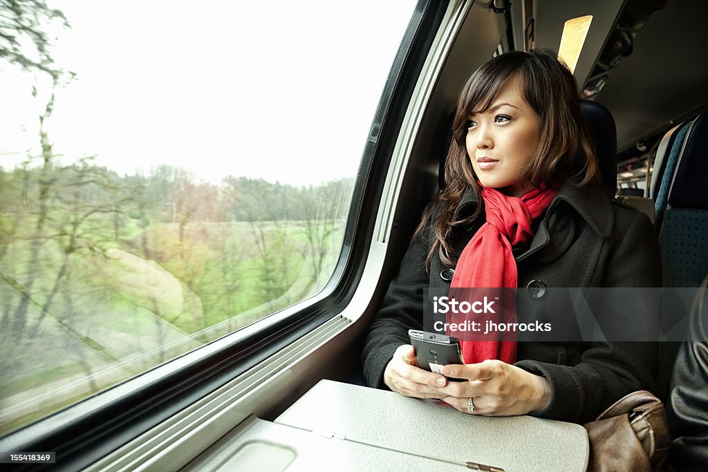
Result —
<path fill-rule="evenodd" d="M 443 375 L 420 369 L 409 345 L 408 330 L 424 328 L 426 288 L 520 287 L 532 301 L 517 303 L 519 318 L 568 324 L 571 297 L 546 287 L 661 286 L 651 222 L 603 190 L 564 64 L 547 52 L 512 52 L 475 71 L 460 94 L 445 182 L 370 327 L 367 384 L 474 415 L 571 422 L 653 385 L 653 343 L 468 342 L 465 364 Z M 656 316 L 649 299 L 622 304 L 621 324 Z"/>

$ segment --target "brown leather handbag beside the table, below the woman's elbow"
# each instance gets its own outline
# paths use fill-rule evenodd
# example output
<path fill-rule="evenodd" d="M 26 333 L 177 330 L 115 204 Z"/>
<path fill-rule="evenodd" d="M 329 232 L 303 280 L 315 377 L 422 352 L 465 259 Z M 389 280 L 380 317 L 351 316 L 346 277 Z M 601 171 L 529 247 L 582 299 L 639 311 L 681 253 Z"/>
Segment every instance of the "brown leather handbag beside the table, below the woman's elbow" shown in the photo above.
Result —
<path fill-rule="evenodd" d="M 663 403 L 646 390 L 620 398 L 584 426 L 588 471 L 660 471 L 671 445 Z"/>

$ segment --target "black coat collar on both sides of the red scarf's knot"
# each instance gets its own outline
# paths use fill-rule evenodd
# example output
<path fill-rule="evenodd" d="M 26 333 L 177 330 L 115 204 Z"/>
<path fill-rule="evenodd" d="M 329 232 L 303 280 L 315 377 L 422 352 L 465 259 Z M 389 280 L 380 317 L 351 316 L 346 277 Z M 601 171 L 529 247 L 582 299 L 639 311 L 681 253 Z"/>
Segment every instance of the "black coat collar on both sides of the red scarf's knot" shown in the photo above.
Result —
<path fill-rule="evenodd" d="M 602 190 L 590 187 L 589 185 L 576 187 L 566 182 L 561 185 L 558 194 L 551 202 L 551 205 L 549 205 L 547 214 L 554 214 L 559 206 L 562 206 L 561 202 L 566 202 L 583 217 L 598 236 L 607 238 L 612 233 L 612 200 L 610 200 Z M 464 195 L 462 195 L 462 200 L 460 200 L 459 205 L 457 205 L 455 219 L 460 219 L 461 217 L 472 214 L 478 204 L 479 200 L 476 193 L 472 188 L 468 188 L 467 192 L 464 192 Z M 548 218 L 545 220 L 548 221 Z M 541 234 L 537 234 L 541 239 L 548 238 L 547 228 L 545 226 L 546 225 L 542 224 L 541 228 L 539 228 L 539 233 Z M 545 236 L 542 234 L 545 234 Z"/>

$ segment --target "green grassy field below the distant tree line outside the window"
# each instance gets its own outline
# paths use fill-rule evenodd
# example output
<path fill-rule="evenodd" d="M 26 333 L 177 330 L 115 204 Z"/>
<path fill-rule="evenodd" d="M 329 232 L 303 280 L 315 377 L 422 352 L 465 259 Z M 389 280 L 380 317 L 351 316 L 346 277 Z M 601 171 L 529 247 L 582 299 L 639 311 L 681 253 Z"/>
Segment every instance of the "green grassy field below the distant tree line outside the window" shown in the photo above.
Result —
<path fill-rule="evenodd" d="M 126 218 L 116 230 L 100 214 L 79 226 L 51 216 L 41 231 L 35 215 L 3 219 L 3 408 L 64 380 L 85 379 L 79 390 L 86 396 L 312 296 L 331 275 L 343 235 L 341 221 L 311 226 L 311 234 L 327 233 L 313 241 L 302 221 L 142 226 Z M 107 258 L 111 248 L 135 255 L 136 267 Z M 177 312 L 171 298 L 180 288 Z M 224 330 L 208 329 L 224 322 Z M 106 369 L 120 372 L 106 381 Z M 67 393 L 71 401 L 75 391 Z M 67 397 L 46 402 L 42 414 Z"/>

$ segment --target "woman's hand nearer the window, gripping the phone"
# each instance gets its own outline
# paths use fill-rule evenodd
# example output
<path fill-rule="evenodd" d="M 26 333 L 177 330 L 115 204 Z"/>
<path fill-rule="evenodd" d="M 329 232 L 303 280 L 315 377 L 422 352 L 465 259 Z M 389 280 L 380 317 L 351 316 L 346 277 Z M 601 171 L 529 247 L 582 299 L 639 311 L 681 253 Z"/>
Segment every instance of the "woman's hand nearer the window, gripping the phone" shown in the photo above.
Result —
<path fill-rule="evenodd" d="M 444 387 L 447 379 L 418 367 L 413 346 L 404 344 L 396 349 L 394 357 L 386 366 L 384 384 L 403 396 L 440 398 L 444 395 L 438 393 L 438 387 Z"/>

